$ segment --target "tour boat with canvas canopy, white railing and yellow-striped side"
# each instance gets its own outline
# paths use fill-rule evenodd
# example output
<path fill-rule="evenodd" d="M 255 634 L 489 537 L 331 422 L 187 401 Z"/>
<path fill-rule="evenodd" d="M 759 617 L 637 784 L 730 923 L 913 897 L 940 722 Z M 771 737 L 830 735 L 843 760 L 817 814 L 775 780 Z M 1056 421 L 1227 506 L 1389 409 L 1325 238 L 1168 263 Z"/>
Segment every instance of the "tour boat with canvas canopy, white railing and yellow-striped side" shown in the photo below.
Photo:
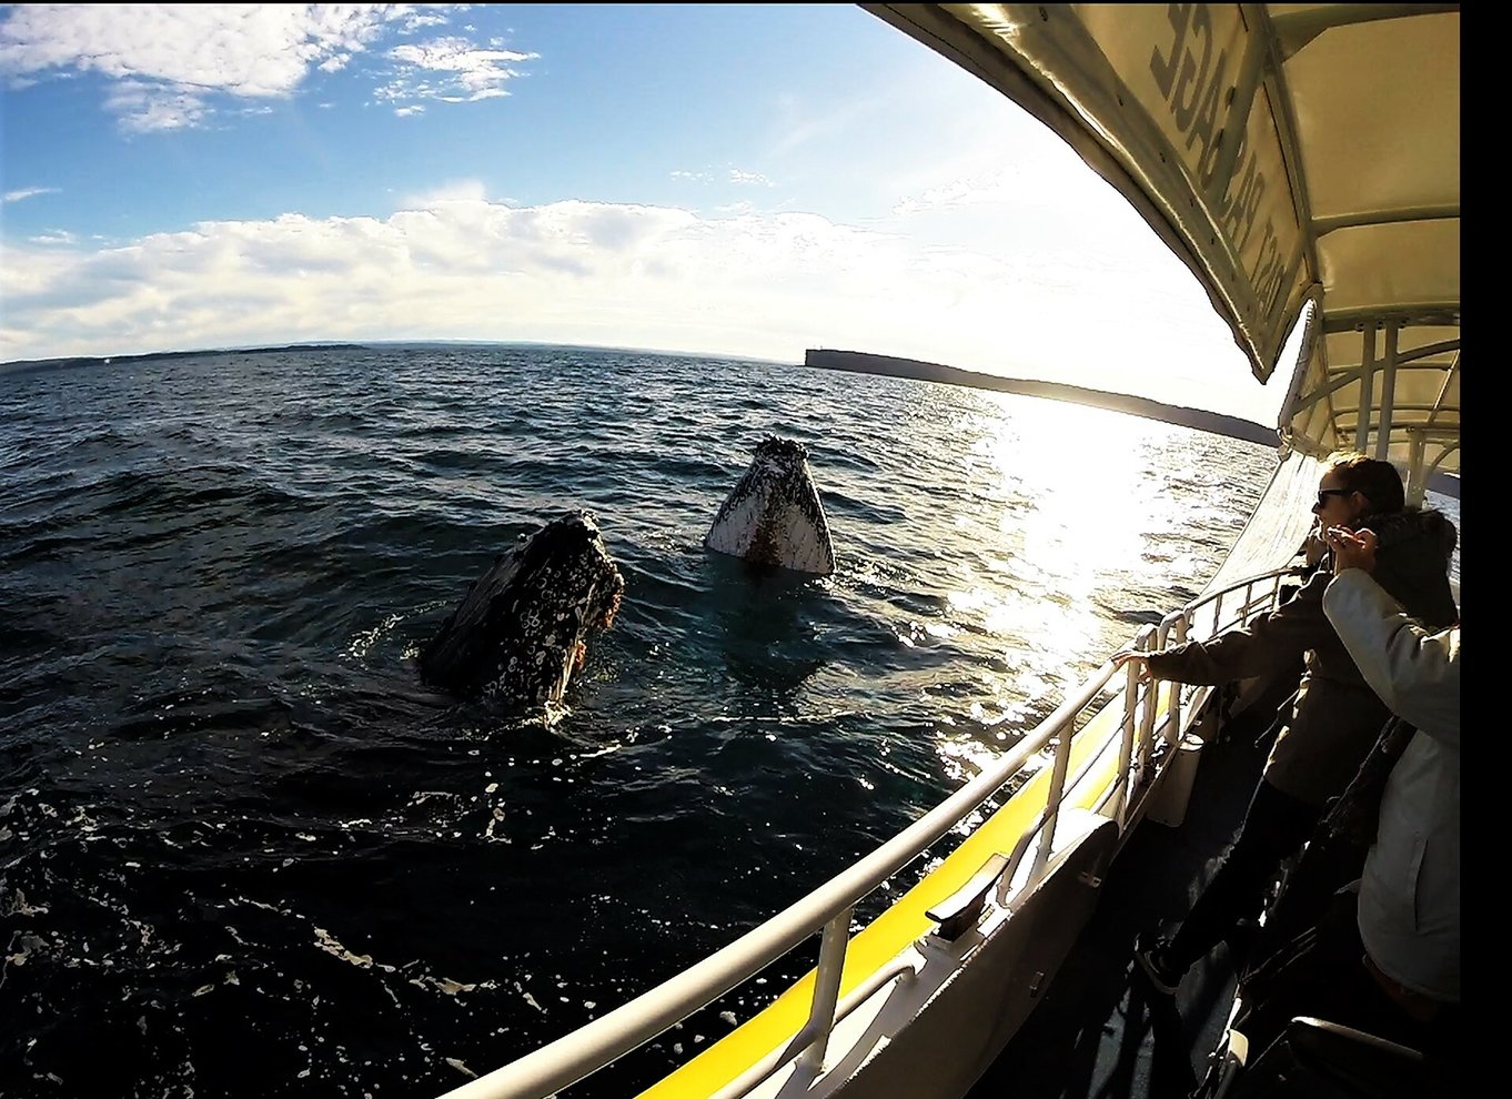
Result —
<path fill-rule="evenodd" d="M 1435 478 L 1458 485 L 1458 5 L 863 8 L 1064 138 L 1191 269 L 1258 382 L 1291 372 L 1255 514 L 1201 597 L 1136 644 L 1275 606 L 1334 450 L 1394 461 L 1409 502 Z M 1287 346 L 1300 351 L 1281 363 Z M 1181 825 L 1210 692 L 1104 664 L 792 907 L 448 1094 L 556 1094 L 818 937 L 807 977 L 643 1099 L 960 1099 L 1055 980 L 1132 830 Z M 931 845 L 968 831 L 918 877 Z M 910 868 L 915 884 L 857 927 L 857 904 Z"/>

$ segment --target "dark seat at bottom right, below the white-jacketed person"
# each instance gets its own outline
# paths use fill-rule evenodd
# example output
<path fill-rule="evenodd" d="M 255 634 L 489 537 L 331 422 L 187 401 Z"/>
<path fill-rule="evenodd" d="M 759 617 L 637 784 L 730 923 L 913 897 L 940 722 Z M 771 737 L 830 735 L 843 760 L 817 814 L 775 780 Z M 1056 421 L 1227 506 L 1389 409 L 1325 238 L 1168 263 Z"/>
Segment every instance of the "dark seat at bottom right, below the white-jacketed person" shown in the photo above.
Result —
<path fill-rule="evenodd" d="M 1432 1094 L 1423 1054 L 1409 1046 L 1297 1016 L 1252 1064 L 1247 1040 L 1229 1036 L 1229 1060 L 1213 1099 L 1408 1099 Z"/>

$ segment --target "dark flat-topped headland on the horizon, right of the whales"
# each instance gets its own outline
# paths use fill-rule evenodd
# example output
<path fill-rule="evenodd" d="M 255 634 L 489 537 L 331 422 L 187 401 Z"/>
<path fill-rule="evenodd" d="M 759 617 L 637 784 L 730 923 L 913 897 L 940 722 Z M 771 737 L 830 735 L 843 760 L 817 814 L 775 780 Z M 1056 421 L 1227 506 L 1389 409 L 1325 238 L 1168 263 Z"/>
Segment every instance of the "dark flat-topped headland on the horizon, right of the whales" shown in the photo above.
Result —
<path fill-rule="evenodd" d="M 1182 408 L 1181 405 L 1166 405 L 1160 401 L 1134 398 L 1126 393 L 1105 393 L 1104 390 L 1066 385 L 1055 381 L 999 378 L 990 373 L 962 370 L 954 366 L 940 366 L 939 363 L 921 363 L 915 358 L 872 355 L 865 351 L 833 351 L 829 348 L 810 348 L 803 355 L 803 364 L 826 370 L 880 373 L 889 378 L 916 378 L 919 381 L 939 381 L 947 385 L 969 385 L 972 389 L 1001 390 L 1002 393 L 1021 393 L 1031 398 L 1049 398 L 1051 401 L 1072 401 L 1078 405 L 1143 416 L 1148 420 L 1161 420 L 1163 423 L 1178 423 L 1185 428 L 1196 428 L 1198 431 L 1228 435 L 1229 438 L 1261 443 L 1263 446 L 1276 446 L 1278 441 L 1275 428 L 1266 428 L 1253 420 L 1241 420 L 1237 416 L 1207 413 L 1201 408 Z"/>

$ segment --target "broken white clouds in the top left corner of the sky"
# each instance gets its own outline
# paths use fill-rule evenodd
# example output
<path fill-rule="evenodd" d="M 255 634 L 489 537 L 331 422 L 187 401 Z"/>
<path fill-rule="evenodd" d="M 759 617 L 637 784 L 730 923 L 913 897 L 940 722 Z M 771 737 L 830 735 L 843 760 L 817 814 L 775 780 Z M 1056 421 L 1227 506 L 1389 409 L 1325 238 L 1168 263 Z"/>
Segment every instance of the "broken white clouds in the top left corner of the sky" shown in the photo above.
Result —
<path fill-rule="evenodd" d="M 0 74 L 12 88 L 97 73 L 113 83 L 106 109 L 132 132 L 204 125 L 222 98 L 292 97 L 311 71 L 339 73 L 380 39 L 438 26 L 469 5 L 9 5 L 0 12 Z M 370 54 L 369 54 L 370 56 Z M 380 97 L 503 95 L 535 54 L 461 38 L 401 45 L 383 57 Z M 431 80 L 428 74 L 440 74 Z"/>

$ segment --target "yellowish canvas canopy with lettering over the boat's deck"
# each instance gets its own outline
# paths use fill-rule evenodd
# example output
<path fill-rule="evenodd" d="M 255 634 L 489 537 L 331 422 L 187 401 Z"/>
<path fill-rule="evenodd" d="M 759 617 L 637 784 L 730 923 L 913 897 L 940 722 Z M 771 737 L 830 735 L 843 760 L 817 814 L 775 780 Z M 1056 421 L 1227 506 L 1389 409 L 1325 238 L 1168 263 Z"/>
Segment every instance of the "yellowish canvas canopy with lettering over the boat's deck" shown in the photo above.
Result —
<path fill-rule="evenodd" d="M 1263 382 L 1314 304 L 1284 447 L 1459 473 L 1458 5 L 865 6 L 1060 133 Z"/>

